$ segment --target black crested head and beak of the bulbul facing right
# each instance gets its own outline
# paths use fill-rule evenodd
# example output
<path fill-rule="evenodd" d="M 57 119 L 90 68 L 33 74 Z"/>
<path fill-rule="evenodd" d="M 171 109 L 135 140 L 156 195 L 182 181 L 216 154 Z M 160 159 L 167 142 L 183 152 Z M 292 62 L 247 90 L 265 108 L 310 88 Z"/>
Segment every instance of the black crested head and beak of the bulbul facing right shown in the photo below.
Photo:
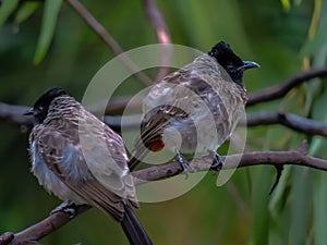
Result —
<path fill-rule="evenodd" d="M 252 61 L 242 61 L 228 44 L 225 41 L 218 42 L 211 51 L 208 52 L 210 57 L 216 58 L 218 63 L 227 71 L 233 82 L 243 85 L 243 73 L 247 69 L 259 68 L 259 65 Z"/>

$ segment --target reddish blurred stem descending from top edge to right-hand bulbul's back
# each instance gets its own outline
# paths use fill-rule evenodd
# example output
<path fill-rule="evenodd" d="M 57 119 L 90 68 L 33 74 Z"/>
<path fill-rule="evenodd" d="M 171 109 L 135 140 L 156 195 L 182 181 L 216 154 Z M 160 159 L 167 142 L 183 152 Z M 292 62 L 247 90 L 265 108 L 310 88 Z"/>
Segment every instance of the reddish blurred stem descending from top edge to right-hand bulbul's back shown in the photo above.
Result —
<path fill-rule="evenodd" d="M 143 7 L 146 13 L 147 19 L 149 20 L 153 28 L 155 29 L 157 41 L 162 45 L 168 45 L 171 42 L 168 27 L 166 25 L 165 19 L 161 15 L 155 0 L 143 0 Z M 159 54 L 161 59 L 161 66 L 158 70 L 156 81 L 161 81 L 170 71 L 170 60 L 172 56 L 171 49 L 159 50 L 162 53 Z M 165 66 L 164 66 L 165 65 Z"/>

